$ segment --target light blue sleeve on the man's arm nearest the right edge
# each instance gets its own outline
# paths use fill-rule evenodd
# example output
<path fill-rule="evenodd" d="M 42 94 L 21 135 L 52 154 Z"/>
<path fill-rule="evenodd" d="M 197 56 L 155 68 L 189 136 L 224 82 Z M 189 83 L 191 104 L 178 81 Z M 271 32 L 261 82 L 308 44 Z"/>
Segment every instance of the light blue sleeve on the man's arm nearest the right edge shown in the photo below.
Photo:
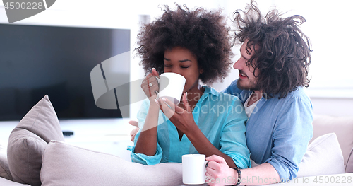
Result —
<path fill-rule="evenodd" d="M 285 105 L 275 124 L 272 156 L 265 161 L 273 165 L 282 182 L 297 177 L 299 163 L 313 136 L 310 100 L 294 98 Z"/>

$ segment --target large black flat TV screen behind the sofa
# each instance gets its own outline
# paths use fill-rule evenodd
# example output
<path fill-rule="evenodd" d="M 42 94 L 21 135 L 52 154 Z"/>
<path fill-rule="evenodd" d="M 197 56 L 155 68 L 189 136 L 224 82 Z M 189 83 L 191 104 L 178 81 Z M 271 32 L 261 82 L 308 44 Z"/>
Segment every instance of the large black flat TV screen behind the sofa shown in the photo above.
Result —
<path fill-rule="evenodd" d="M 90 72 L 129 50 L 130 30 L 0 24 L 0 120 L 20 120 L 44 95 L 59 120 L 122 117 L 95 105 Z"/>

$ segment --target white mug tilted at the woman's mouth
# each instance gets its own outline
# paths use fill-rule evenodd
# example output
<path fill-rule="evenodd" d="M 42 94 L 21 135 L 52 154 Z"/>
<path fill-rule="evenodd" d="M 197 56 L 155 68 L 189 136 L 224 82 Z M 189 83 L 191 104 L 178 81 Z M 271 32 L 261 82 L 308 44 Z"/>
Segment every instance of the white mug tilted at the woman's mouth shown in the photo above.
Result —
<path fill-rule="evenodd" d="M 184 76 L 173 72 L 165 72 L 160 74 L 160 78 L 157 80 L 160 83 L 158 96 L 160 98 L 167 98 L 176 105 L 179 104 L 186 81 Z"/>

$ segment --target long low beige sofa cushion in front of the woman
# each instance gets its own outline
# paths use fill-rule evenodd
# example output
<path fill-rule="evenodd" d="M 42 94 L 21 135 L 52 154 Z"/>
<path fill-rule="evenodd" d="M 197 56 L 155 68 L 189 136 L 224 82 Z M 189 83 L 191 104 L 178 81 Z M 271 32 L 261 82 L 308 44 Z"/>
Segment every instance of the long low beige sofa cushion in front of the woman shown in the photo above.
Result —
<path fill-rule="evenodd" d="M 44 151 L 40 178 L 43 186 L 183 185 L 181 171 L 181 163 L 142 165 L 51 141 Z"/>

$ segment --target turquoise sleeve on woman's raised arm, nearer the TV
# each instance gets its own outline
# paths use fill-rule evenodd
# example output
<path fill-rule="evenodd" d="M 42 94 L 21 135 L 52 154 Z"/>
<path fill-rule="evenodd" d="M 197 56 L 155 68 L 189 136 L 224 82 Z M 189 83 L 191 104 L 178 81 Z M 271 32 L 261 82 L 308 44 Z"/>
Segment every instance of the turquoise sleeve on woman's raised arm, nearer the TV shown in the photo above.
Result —
<path fill-rule="evenodd" d="M 156 153 L 154 156 L 147 156 L 143 153 L 135 153 L 135 146 L 136 142 L 138 141 L 138 137 L 140 136 L 140 133 L 143 129 L 143 125 L 145 124 L 145 119 L 147 116 L 148 112 L 148 101 L 144 100 L 143 104 L 140 107 L 140 110 L 138 111 L 137 119 L 138 119 L 138 127 L 140 128 L 138 133 L 135 136 L 135 139 L 133 141 L 134 146 L 128 146 L 128 150 L 131 151 L 131 161 L 140 163 L 143 165 L 155 165 L 157 163 L 160 163 L 162 160 L 162 148 L 160 147 L 160 144 L 157 141 L 157 149 Z"/>

